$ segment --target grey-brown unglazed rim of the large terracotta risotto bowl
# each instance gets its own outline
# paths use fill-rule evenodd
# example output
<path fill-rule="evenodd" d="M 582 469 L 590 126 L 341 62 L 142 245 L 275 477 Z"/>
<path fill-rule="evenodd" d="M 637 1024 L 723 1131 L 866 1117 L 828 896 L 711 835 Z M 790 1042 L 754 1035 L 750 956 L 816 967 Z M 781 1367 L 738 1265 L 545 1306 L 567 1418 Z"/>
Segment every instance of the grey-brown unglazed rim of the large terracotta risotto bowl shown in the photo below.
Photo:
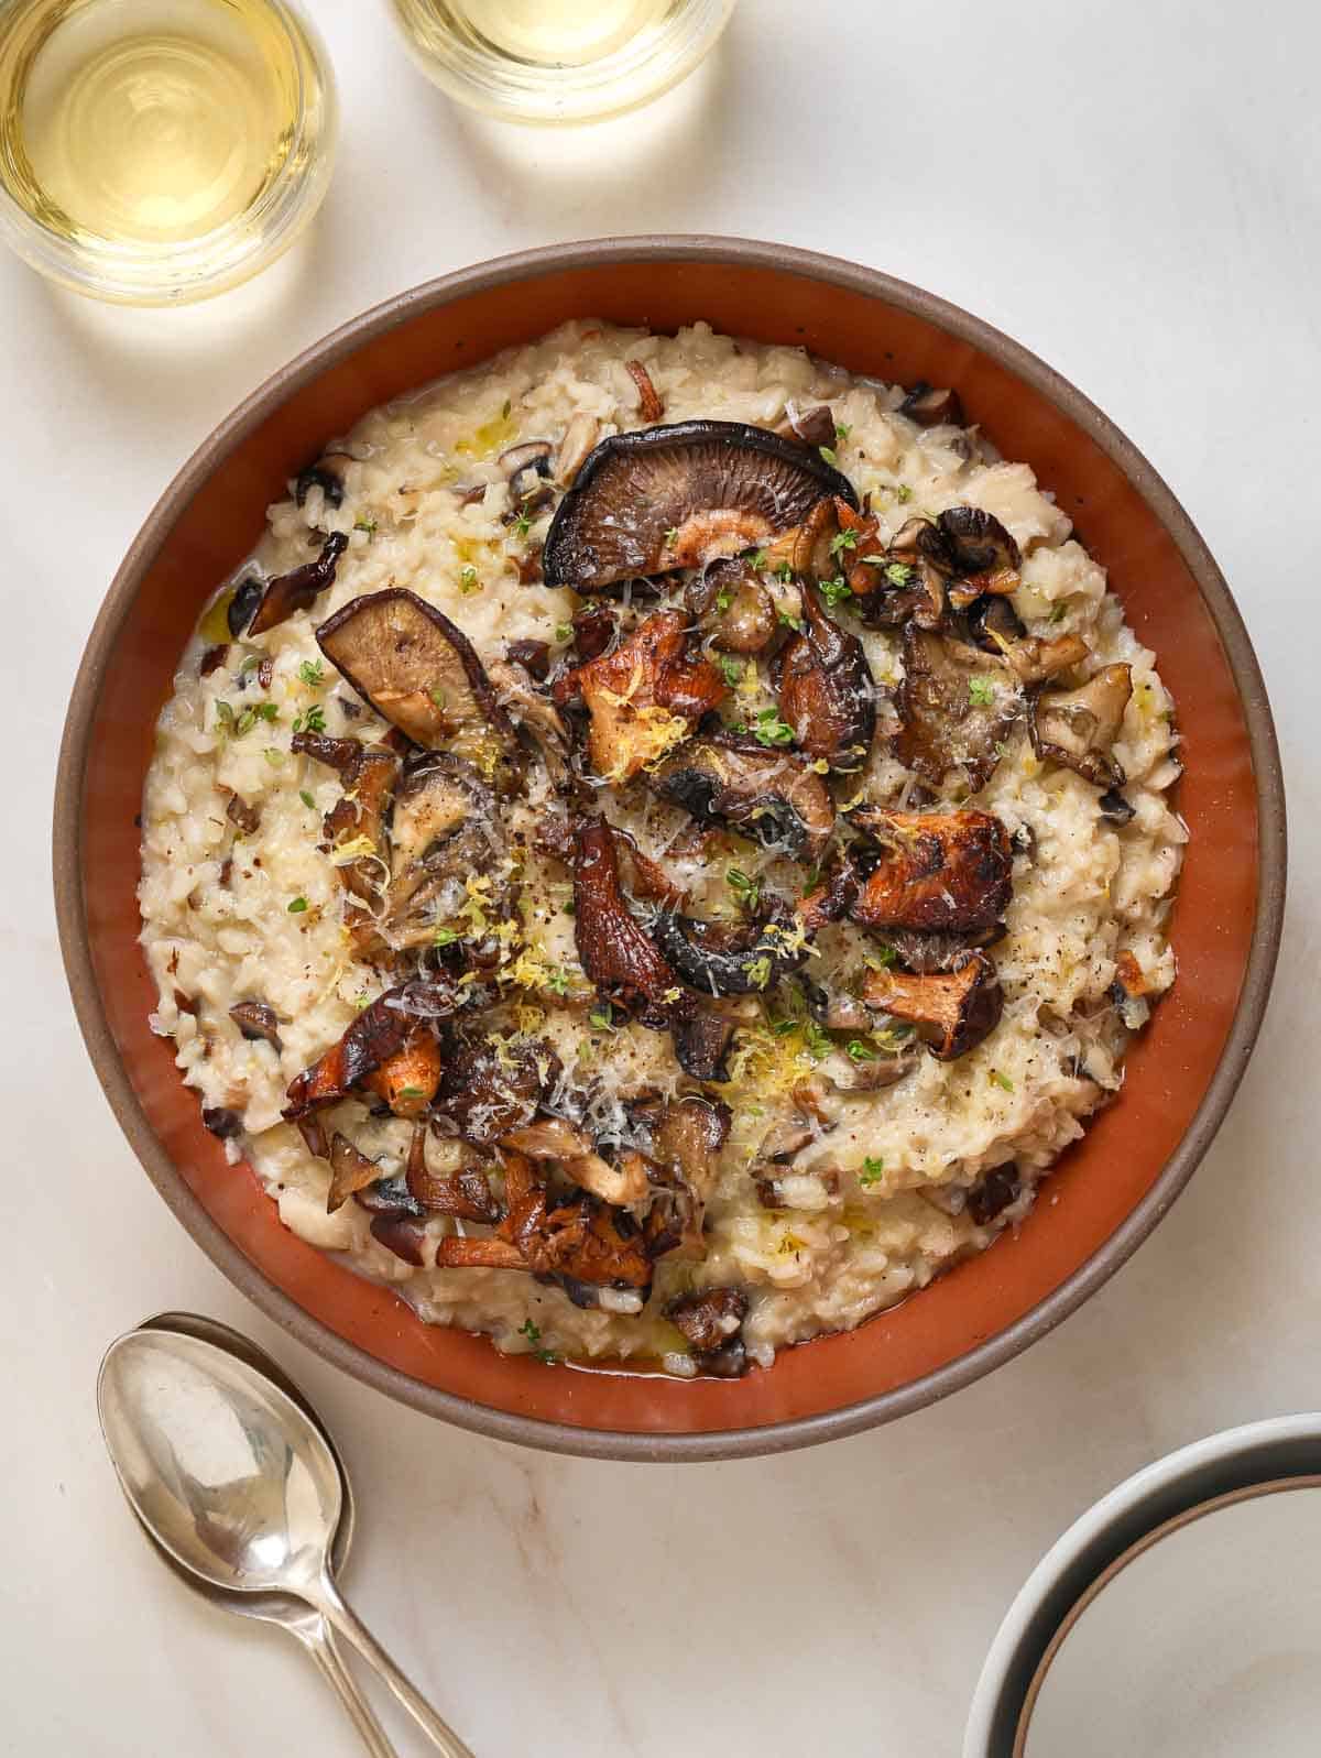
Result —
<path fill-rule="evenodd" d="M 695 260 L 732 260 L 781 272 L 790 271 L 807 280 L 825 281 L 848 292 L 878 299 L 881 304 L 923 318 L 953 339 L 969 343 L 1008 367 L 1008 371 L 1024 380 L 1069 420 L 1085 429 L 1091 440 L 1119 466 L 1179 548 L 1224 643 L 1244 708 L 1252 758 L 1259 814 L 1259 890 L 1238 1007 L 1207 1092 L 1156 1183 L 1115 1232 L 1066 1282 L 1004 1331 L 990 1336 L 985 1343 L 978 1343 L 957 1361 L 946 1362 L 908 1385 L 879 1392 L 874 1398 L 844 1405 L 837 1410 L 793 1417 L 760 1427 L 723 1429 L 719 1433 L 653 1435 L 572 1427 L 563 1422 L 547 1422 L 514 1412 L 493 1410 L 452 1392 L 443 1392 L 345 1341 L 266 1280 L 220 1231 L 179 1178 L 174 1162 L 151 1129 L 132 1090 L 127 1067 L 109 1030 L 91 963 L 79 883 L 81 819 L 83 775 L 100 682 L 120 629 L 130 615 L 137 585 L 160 552 L 179 506 L 192 499 L 211 473 L 273 408 L 324 373 L 325 367 L 354 353 L 364 341 L 375 339 L 420 311 L 452 299 L 482 294 L 494 287 L 503 287 L 512 280 L 563 269 L 600 267 L 614 262 L 682 264 Z M 982 318 L 973 316 L 969 311 L 964 311 L 960 306 L 950 304 L 879 269 L 865 269 L 839 257 L 755 239 L 709 234 L 602 237 L 573 244 L 542 246 L 473 264 L 452 274 L 424 281 L 350 318 L 329 336 L 304 348 L 303 353 L 278 373 L 271 374 L 215 427 L 178 471 L 120 564 L 91 628 L 77 670 L 60 745 L 55 786 L 55 905 L 60 949 L 77 1021 L 97 1078 L 130 1146 L 142 1162 L 151 1183 L 211 1262 L 269 1318 L 308 1348 L 331 1364 L 343 1368 L 354 1378 L 410 1405 L 413 1410 L 442 1417 L 457 1427 L 494 1440 L 595 1459 L 647 1459 L 658 1463 L 739 1459 L 786 1452 L 825 1440 L 839 1440 L 908 1415 L 913 1410 L 922 1410 L 936 1403 L 936 1399 L 946 1398 L 964 1385 L 971 1385 L 1006 1361 L 1011 1361 L 1029 1343 L 1034 1343 L 1047 1331 L 1061 1324 L 1133 1255 L 1152 1227 L 1168 1213 L 1224 1120 L 1247 1069 L 1270 995 L 1284 919 L 1286 865 L 1284 777 L 1275 724 L 1252 643 L 1230 587 L 1193 520 L 1133 441 L 1066 378 L 1020 343 Z"/>

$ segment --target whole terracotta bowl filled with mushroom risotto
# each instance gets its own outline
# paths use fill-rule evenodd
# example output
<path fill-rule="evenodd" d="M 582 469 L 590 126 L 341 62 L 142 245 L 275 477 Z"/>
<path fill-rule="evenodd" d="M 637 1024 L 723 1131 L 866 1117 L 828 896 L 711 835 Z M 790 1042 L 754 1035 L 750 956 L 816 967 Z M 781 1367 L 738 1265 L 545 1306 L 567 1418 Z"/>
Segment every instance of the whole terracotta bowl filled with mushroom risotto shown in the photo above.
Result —
<path fill-rule="evenodd" d="M 257 1304 L 693 1459 L 925 1405 L 1124 1262 L 1259 1028 L 1284 809 L 1228 587 L 1080 392 L 883 274 L 621 239 L 216 429 L 55 865 L 111 1104 Z"/>

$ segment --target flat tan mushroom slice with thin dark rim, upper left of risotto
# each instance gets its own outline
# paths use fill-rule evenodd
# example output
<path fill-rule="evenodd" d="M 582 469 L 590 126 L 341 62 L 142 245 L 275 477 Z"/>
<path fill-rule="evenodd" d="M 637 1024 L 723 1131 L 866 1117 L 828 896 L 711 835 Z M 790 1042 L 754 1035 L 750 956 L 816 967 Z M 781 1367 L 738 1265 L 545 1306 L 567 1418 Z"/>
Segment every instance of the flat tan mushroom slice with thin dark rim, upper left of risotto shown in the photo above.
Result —
<path fill-rule="evenodd" d="M 325 657 L 392 726 L 419 745 L 466 735 L 512 745 L 514 728 L 463 629 L 415 592 L 354 598 L 317 629 Z M 468 754 L 468 752 L 464 752 Z"/>

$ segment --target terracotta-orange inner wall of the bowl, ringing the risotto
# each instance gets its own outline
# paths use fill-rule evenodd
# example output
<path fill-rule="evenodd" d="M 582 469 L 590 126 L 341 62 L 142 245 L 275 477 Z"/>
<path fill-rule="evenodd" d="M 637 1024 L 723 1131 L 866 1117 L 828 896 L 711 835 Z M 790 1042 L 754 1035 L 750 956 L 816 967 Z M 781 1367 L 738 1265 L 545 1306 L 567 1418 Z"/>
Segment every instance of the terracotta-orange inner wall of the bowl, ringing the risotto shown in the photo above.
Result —
<path fill-rule="evenodd" d="M 874 1406 L 872 1420 L 890 1413 L 906 1391 L 920 1391 L 927 1377 L 1031 1315 L 1108 1243 L 1117 1250 L 1113 1236 L 1189 1130 L 1235 1021 L 1258 919 L 1258 789 L 1244 701 L 1189 561 L 1089 422 L 1022 376 L 1018 367 L 1031 357 L 967 320 L 960 327 L 971 338 L 957 334 L 946 327 L 946 308 L 879 276 L 851 271 L 860 285 L 848 285 L 850 276 L 830 278 L 821 258 L 786 260 L 788 253 L 746 246 L 661 264 L 619 246 L 598 260 L 586 250 L 577 258 L 570 253 L 568 264 L 565 253 L 547 253 L 505 278 L 487 272 L 484 285 L 471 274 L 456 278 L 457 290 L 442 283 L 324 345 L 315 359 L 296 362 L 274 394 L 259 394 L 222 429 L 195 469 L 195 492 L 185 473 L 165 498 L 121 571 L 79 686 L 86 742 L 70 731 L 70 761 L 84 751 L 81 825 L 65 877 L 81 888 L 86 939 L 67 911 L 65 933 L 83 953 L 90 948 L 93 984 L 79 984 L 77 953 L 70 958 L 79 1011 L 148 1171 L 222 1266 L 267 1308 L 303 1326 L 317 1347 L 334 1354 L 332 1338 L 341 1338 L 368 1357 L 341 1352 L 355 1371 L 478 1427 L 512 1431 L 480 1406 L 570 1431 L 656 1438 L 802 1424 L 883 1394 L 894 1396 Z M 1159 654 L 1186 735 L 1179 807 L 1193 839 L 1175 916 L 1180 974 L 1133 1048 L 1122 1104 L 1069 1150 L 1050 1185 L 1054 1201 L 1017 1238 L 1004 1238 L 920 1299 L 851 1334 L 785 1350 L 772 1371 L 735 1384 L 547 1369 L 500 1357 L 482 1338 L 419 1324 L 394 1296 L 280 1225 L 255 1178 L 230 1169 L 201 1127 L 197 1099 L 179 1083 L 169 1042 L 146 1023 L 153 990 L 137 948 L 134 819 L 153 719 L 199 605 L 252 547 L 281 483 L 325 440 L 387 397 L 584 315 L 660 331 L 705 318 L 733 334 L 804 345 L 855 373 L 955 385 L 971 418 L 1008 457 L 1034 466 L 1108 568 L 1138 636 Z M 1038 380 L 1050 380 L 1033 366 Z M 1131 1241 L 1119 1257 L 1129 1248 Z M 429 1389 L 475 1408 L 436 1399 Z M 920 1398 L 904 1399 L 911 1401 Z M 811 1429 L 807 1422 L 799 1438 Z M 536 1436 L 524 1429 L 515 1438 Z M 573 1438 L 561 1433 L 552 1443 L 573 1445 Z M 607 1440 L 593 1450 L 612 1447 Z"/>

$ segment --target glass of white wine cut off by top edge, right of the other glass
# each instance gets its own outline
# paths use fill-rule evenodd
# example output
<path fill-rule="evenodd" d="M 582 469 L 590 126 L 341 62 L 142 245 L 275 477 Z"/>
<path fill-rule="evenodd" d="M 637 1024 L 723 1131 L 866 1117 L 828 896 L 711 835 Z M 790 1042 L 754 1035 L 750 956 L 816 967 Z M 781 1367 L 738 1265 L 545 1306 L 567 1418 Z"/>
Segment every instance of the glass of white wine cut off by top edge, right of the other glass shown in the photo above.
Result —
<path fill-rule="evenodd" d="M 684 79 L 735 0 L 392 0 L 424 74 L 510 121 L 598 121 Z"/>

